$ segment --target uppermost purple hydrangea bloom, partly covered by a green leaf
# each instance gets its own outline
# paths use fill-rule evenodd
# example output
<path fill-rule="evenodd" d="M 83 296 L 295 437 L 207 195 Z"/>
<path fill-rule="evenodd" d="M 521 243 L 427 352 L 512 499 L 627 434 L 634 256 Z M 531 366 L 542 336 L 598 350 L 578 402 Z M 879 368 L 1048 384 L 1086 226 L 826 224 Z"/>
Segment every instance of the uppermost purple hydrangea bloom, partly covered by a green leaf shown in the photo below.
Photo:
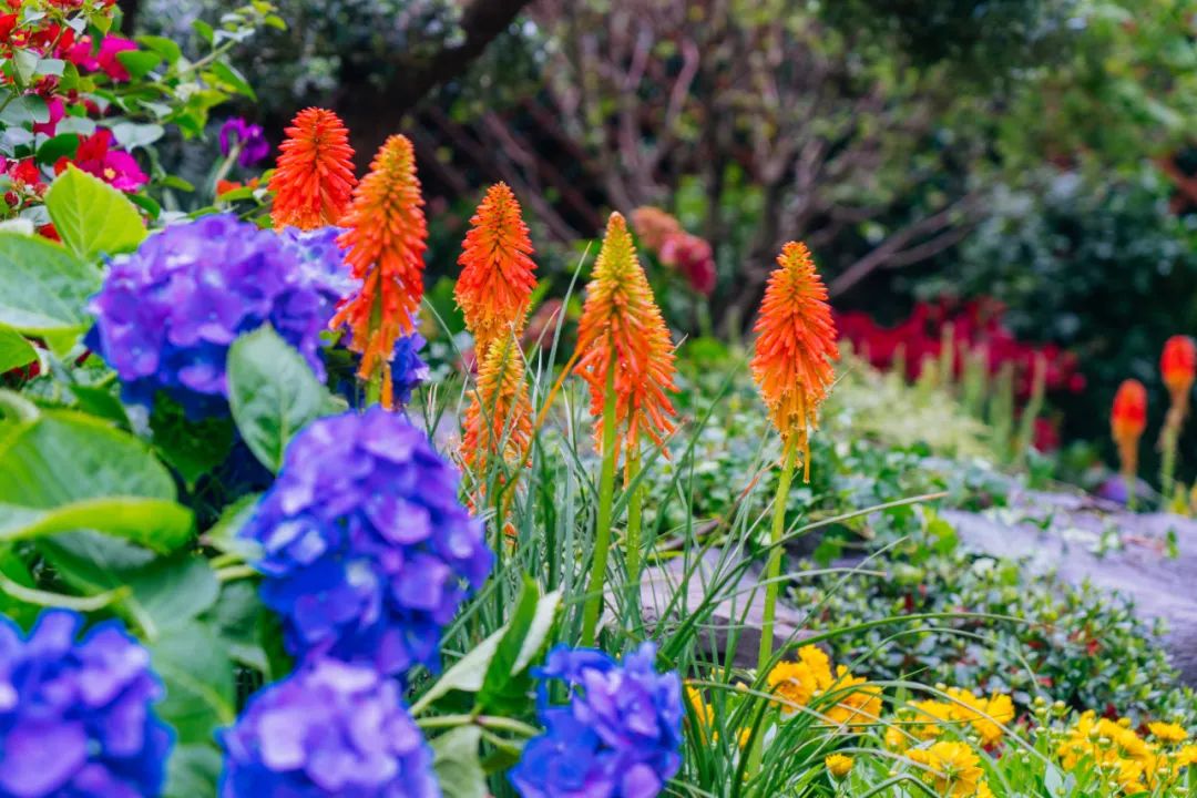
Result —
<path fill-rule="evenodd" d="M 306 262 L 304 248 L 232 214 L 166 227 L 113 263 L 90 305 L 87 346 L 116 370 L 128 401 L 148 407 L 164 391 L 192 419 L 227 412 L 229 346 L 263 323 L 323 378 L 320 333 L 345 286 Z"/>

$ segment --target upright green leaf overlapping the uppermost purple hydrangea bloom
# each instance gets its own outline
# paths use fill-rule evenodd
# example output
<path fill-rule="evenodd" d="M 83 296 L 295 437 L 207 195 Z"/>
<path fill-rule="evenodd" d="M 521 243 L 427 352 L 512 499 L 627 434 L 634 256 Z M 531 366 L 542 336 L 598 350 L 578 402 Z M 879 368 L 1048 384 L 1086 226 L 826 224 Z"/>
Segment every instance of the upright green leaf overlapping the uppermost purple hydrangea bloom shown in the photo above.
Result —
<path fill-rule="evenodd" d="M 303 355 L 269 325 L 233 341 L 227 368 L 237 428 L 262 465 L 278 474 L 287 443 L 333 409 L 332 397 Z"/>

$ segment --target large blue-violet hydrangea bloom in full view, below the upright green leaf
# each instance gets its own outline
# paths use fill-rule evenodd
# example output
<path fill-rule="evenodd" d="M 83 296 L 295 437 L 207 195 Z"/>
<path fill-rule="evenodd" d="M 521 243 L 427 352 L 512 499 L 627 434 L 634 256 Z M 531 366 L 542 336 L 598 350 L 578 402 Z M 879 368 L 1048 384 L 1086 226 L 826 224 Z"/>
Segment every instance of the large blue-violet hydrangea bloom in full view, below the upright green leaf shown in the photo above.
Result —
<path fill-rule="evenodd" d="M 457 482 L 420 430 L 378 407 L 296 435 L 242 530 L 291 653 L 437 668 L 442 628 L 493 561 Z"/>

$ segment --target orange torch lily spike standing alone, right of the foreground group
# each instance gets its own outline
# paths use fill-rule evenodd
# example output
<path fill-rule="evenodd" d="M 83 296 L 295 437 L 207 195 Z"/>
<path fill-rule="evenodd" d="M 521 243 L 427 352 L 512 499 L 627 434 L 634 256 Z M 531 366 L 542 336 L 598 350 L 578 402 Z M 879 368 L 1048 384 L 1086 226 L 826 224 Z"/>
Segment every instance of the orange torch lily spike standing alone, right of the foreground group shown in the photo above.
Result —
<path fill-rule="evenodd" d="M 768 278 L 757 322 L 753 377 L 782 440 L 797 446 L 810 479 L 810 430 L 836 377 L 839 357 L 827 288 L 806 244 L 790 242 Z"/>

